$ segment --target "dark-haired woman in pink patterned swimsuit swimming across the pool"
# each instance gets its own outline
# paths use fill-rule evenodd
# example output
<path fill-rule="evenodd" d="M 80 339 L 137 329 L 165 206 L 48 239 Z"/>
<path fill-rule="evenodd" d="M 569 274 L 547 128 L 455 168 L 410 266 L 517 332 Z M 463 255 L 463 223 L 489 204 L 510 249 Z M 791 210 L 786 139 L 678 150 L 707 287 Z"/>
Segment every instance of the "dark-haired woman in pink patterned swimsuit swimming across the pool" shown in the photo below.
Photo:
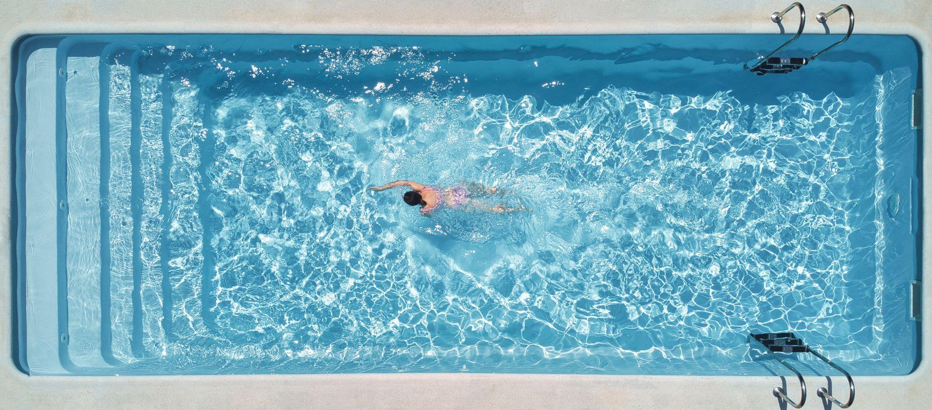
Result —
<path fill-rule="evenodd" d="M 496 187 L 487 187 L 475 183 L 460 183 L 459 185 L 444 188 L 440 186 L 421 185 L 413 181 L 395 181 L 382 186 L 372 186 L 369 189 L 373 191 L 384 191 L 396 186 L 408 186 L 410 191 L 404 193 L 404 203 L 415 206 L 420 205 L 420 213 L 429 215 L 441 207 L 450 208 L 467 208 L 474 211 L 484 212 L 515 212 L 529 211 L 523 206 L 510 207 L 507 204 L 489 205 L 484 201 L 474 199 L 473 197 L 487 197 L 497 194 L 506 194 L 507 191 Z"/>

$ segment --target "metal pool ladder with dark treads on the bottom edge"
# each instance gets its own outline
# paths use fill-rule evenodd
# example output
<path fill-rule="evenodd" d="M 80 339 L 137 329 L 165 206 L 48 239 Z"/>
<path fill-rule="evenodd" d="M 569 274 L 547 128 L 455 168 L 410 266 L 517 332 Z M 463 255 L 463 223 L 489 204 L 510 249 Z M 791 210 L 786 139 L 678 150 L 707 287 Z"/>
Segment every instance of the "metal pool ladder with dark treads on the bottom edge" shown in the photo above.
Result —
<path fill-rule="evenodd" d="M 781 387 L 774 388 L 774 396 L 785 400 L 789 405 L 795 408 L 800 408 L 802 407 L 802 404 L 806 403 L 806 381 L 802 378 L 802 375 L 800 374 L 798 370 L 796 370 L 796 368 L 791 366 L 788 362 L 784 362 L 783 359 L 781 359 L 780 356 L 777 355 L 777 353 L 812 353 L 822 362 L 828 363 L 829 366 L 841 372 L 844 375 L 844 377 L 848 379 L 848 390 L 850 392 L 850 394 L 848 395 L 848 401 L 845 403 L 842 403 L 838 399 L 832 397 L 829 394 L 829 390 L 827 390 L 826 388 L 818 388 L 818 390 L 816 390 L 818 396 L 829 400 L 829 402 L 831 403 L 835 403 L 835 405 L 841 408 L 851 407 L 851 404 L 855 403 L 855 381 L 851 378 L 851 375 L 847 371 L 845 371 L 841 366 L 839 366 L 838 364 L 835 364 L 834 362 L 830 361 L 828 358 L 823 356 L 822 353 L 819 353 L 818 351 L 816 351 L 816 349 L 812 349 L 809 347 L 809 345 L 802 343 L 802 339 L 799 337 L 796 337 L 796 335 L 793 335 L 792 333 L 750 334 L 750 336 L 748 337 L 748 343 L 757 343 L 758 345 L 760 345 L 764 351 L 766 351 L 770 356 L 776 359 L 777 362 L 780 362 L 780 364 L 783 364 L 784 367 L 788 368 L 789 371 L 793 372 L 793 374 L 796 375 L 796 377 L 800 379 L 800 386 L 802 388 L 802 398 L 800 398 L 799 403 L 796 403 L 792 399 L 790 399 L 787 396 L 787 391 L 784 390 L 783 388 Z"/>

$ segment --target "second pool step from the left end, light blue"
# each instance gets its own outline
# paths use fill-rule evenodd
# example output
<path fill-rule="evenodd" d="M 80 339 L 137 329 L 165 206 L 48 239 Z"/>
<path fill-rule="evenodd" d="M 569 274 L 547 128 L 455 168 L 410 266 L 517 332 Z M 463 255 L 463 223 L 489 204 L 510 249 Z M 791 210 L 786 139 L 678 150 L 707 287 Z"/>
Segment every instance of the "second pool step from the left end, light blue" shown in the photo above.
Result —
<path fill-rule="evenodd" d="M 62 41 L 57 53 L 58 153 L 66 174 L 58 192 L 66 209 L 64 255 L 67 289 L 65 360 L 74 371 L 108 368 L 102 349 L 100 54 L 103 45 Z M 61 150 L 64 150 L 62 153 Z M 63 157 L 63 158 L 62 158 Z M 62 161 L 63 159 L 63 161 Z M 60 221 L 61 223 L 61 221 Z M 63 247 L 63 249 L 62 249 Z M 62 252 L 63 251 L 63 252 Z M 62 260 L 59 261 L 60 275 Z M 61 299 L 60 299 L 61 300 Z"/>

